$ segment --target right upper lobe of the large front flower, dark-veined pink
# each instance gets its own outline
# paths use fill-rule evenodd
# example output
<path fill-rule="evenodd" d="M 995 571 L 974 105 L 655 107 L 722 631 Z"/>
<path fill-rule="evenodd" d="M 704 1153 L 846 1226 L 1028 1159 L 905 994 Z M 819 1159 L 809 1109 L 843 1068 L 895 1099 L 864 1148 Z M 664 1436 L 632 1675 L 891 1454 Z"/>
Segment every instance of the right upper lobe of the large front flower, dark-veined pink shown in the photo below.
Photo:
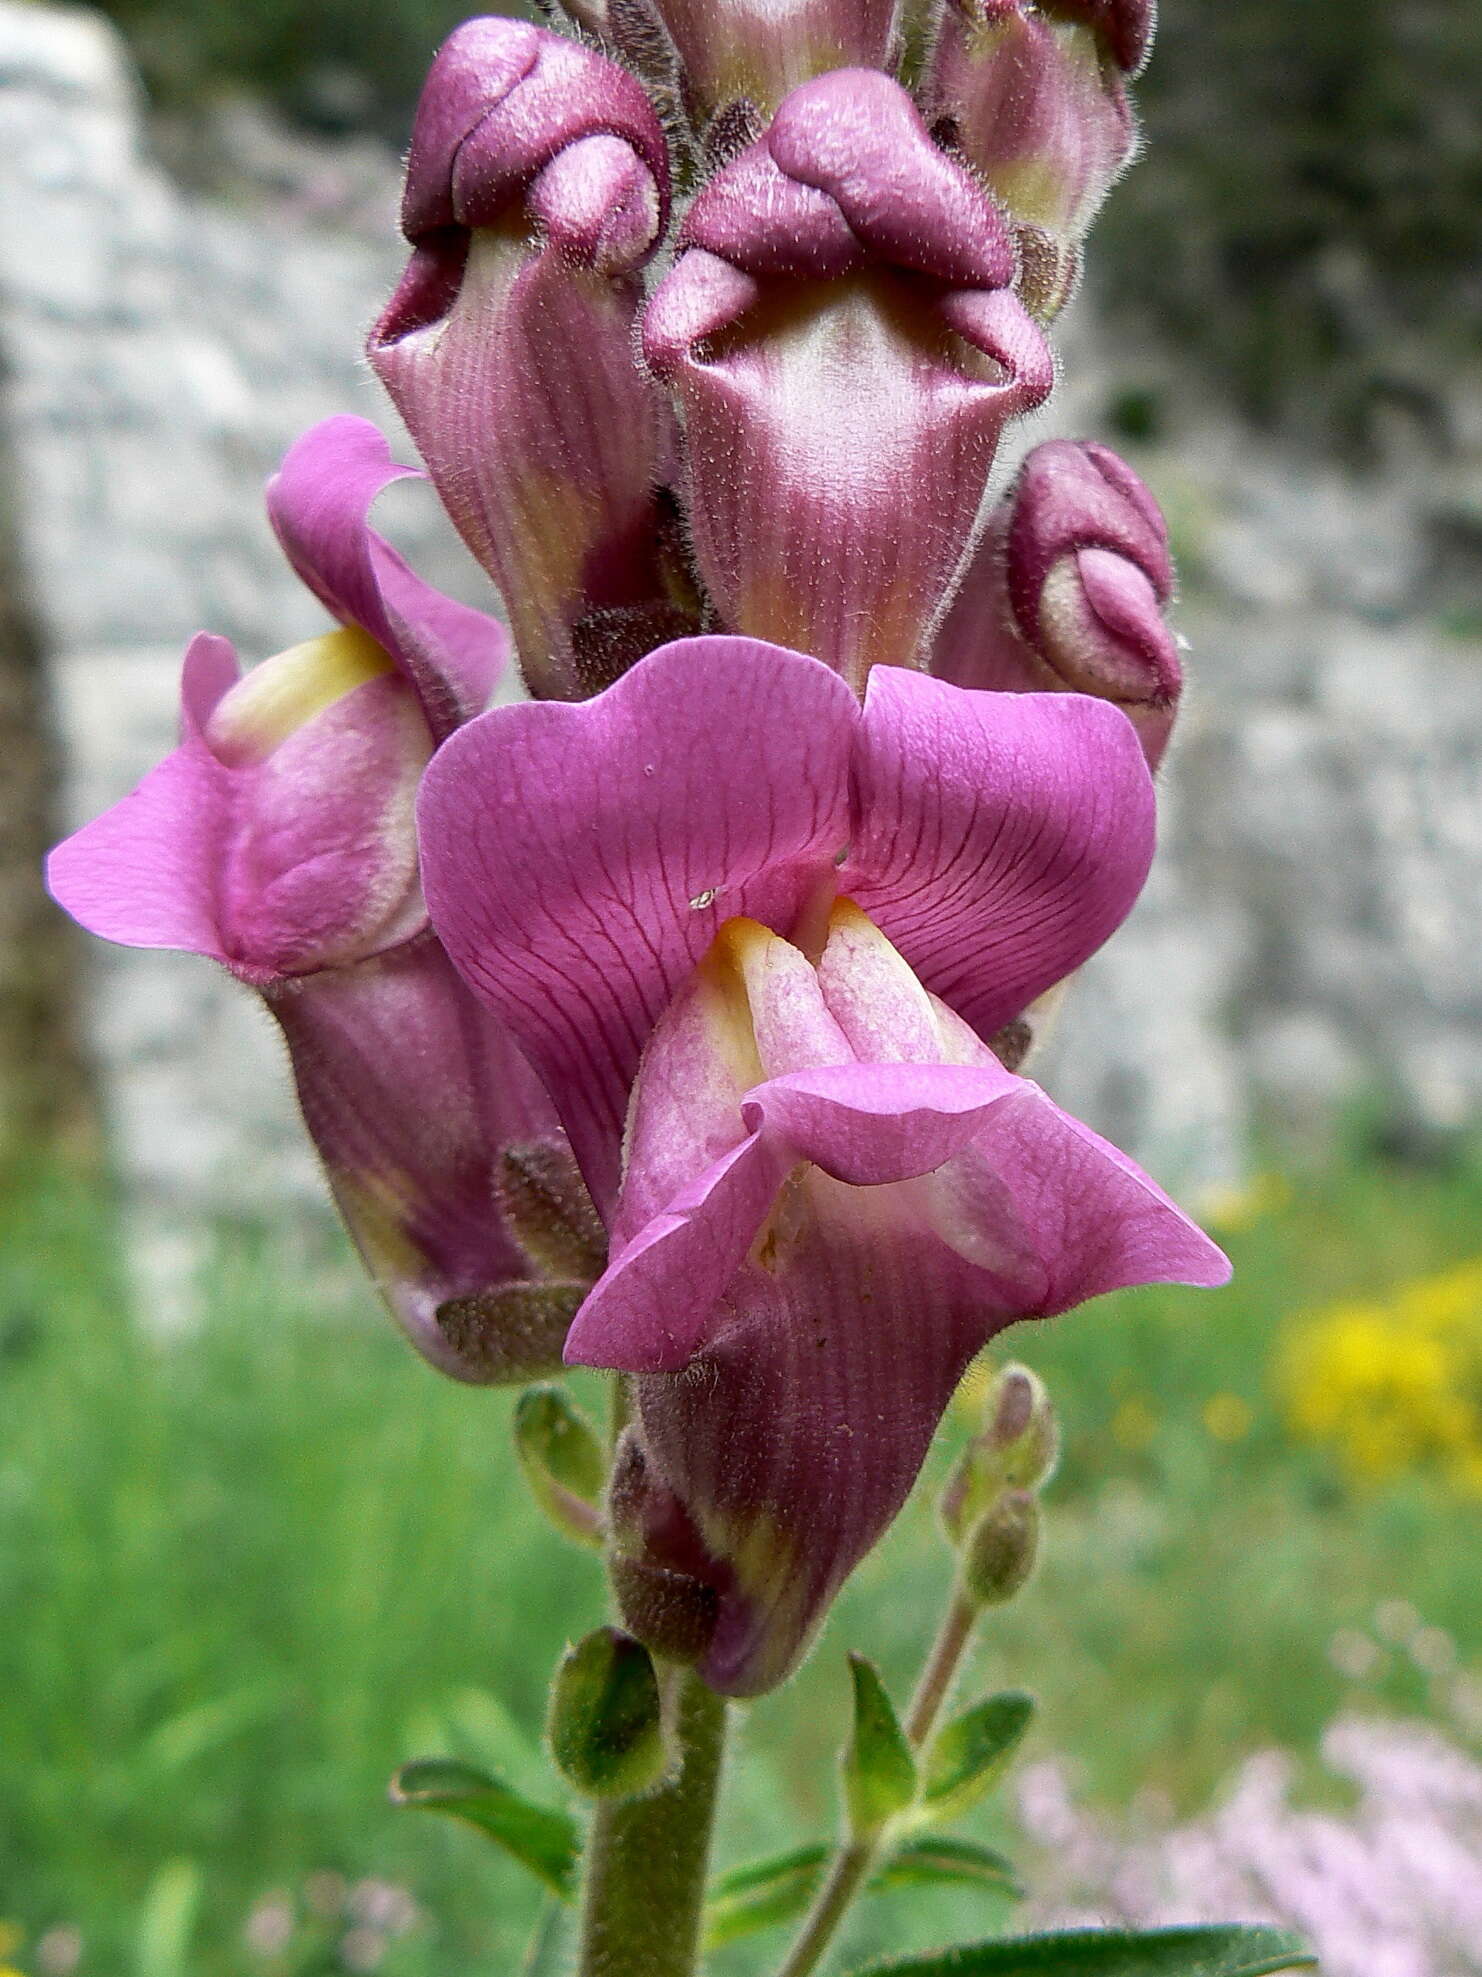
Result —
<path fill-rule="evenodd" d="M 840 888 L 988 1040 L 1126 919 L 1156 805 L 1128 720 L 879 666 Z"/>

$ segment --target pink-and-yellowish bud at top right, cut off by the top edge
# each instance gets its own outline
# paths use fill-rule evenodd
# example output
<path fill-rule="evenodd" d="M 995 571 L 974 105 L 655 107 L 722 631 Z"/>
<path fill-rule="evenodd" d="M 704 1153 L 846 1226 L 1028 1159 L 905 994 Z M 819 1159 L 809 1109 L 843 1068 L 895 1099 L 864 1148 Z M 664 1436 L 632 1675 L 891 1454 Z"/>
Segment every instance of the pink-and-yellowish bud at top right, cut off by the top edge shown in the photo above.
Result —
<path fill-rule="evenodd" d="M 1020 237 L 1020 295 L 1047 320 L 1132 156 L 1136 125 L 1103 8 L 948 0 L 923 95 Z M 1093 20 L 1093 14 L 1097 20 Z"/>

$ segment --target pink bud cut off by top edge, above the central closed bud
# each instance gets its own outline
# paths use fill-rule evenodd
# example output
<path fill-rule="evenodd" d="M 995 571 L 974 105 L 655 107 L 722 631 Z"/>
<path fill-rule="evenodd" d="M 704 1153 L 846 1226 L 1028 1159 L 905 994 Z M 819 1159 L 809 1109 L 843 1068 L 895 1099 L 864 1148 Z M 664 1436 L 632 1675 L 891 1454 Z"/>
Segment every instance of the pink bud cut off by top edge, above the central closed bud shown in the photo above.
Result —
<path fill-rule="evenodd" d="M 692 121 L 731 105 L 767 121 L 796 83 L 891 65 L 895 0 L 654 0 L 682 67 Z"/>

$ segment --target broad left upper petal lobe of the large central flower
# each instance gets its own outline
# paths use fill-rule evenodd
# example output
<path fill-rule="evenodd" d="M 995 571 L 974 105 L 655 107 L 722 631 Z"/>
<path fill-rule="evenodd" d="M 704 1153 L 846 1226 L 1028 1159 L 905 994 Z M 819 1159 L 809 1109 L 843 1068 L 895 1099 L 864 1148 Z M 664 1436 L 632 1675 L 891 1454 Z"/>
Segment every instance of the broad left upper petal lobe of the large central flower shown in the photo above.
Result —
<path fill-rule="evenodd" d="M 599 1206 L 642 1046 L 719 921 L 790 925 L 826 882 L 858 724 L 816 660 L 686 639 L 585 706 L 482 716 L 427 771 L 435 925 L 557 1097 Z"/>

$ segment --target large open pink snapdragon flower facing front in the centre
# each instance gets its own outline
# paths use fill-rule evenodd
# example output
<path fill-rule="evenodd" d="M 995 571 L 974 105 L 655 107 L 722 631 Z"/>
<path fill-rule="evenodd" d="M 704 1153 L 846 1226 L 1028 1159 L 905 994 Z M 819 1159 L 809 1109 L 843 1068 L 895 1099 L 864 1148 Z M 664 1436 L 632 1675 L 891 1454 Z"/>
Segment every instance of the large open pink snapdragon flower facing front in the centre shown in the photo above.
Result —
<path fill-rule="evenodd" d="M 567 1356 L 640 1376 L 628 1584 L 680 1580 L 705 1678 L 771 1688 L 986 1338 L 1227 1271 L 992 1052 L 1142 886 L 1136 735 L 895 666 L 862 706 L 818 660 L 694 639 L 470 724 L 419 818 L 435 925 L 613 1232 Z"/>

